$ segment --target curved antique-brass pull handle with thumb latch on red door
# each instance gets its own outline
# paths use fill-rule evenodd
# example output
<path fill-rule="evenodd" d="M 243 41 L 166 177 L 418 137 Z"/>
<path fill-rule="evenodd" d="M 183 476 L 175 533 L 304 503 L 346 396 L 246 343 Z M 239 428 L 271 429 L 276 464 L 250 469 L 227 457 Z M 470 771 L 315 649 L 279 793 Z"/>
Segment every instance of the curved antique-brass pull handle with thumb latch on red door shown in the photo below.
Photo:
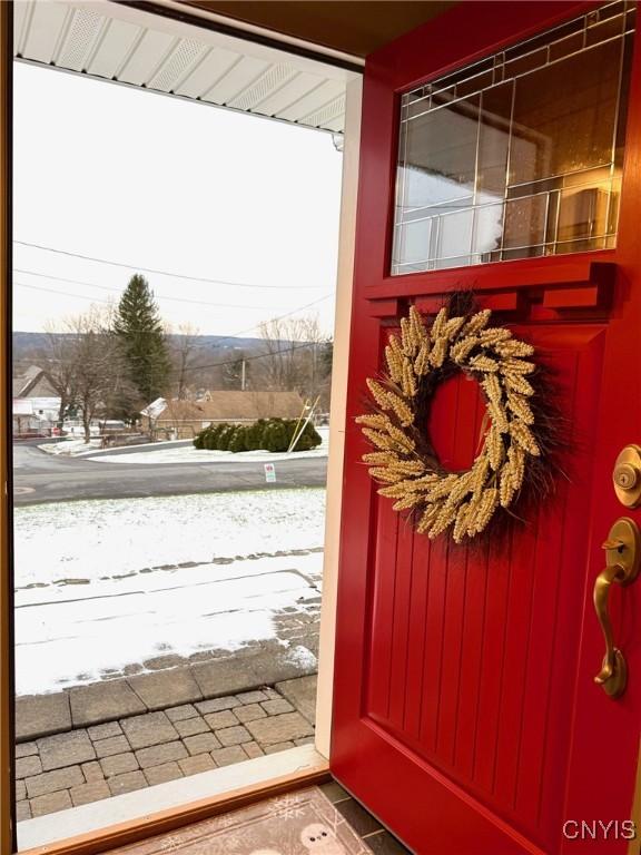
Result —
<path fill-rule="evenodd" d="M 614 645 L 614 632 L 610 619 L 609 601 L 612 582 L 627 586 L 639 574 L 641 535 L 637 523 L 628 517 L 621 517 L 610 529 L 603 543 L 607 566 L 594 582 L 594 609 L 605 639 L 605 656 L 594 682 L 603 688 L 611 698 L 619 698 L 628 682 L 625 657 Z"/>

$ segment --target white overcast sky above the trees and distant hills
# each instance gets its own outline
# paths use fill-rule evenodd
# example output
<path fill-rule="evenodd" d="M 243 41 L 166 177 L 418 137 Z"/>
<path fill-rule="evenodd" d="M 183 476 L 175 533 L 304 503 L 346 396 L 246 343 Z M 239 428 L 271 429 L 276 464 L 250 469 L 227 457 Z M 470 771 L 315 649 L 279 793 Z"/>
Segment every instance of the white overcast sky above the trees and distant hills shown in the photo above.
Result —
<path fill-rule="evenodd" d="M 331 135 L 22 62 L 14 117 L 14 240 L 263 286 L 146 273 L 175 327 L 253 335 L 315 303 L 300 314 L 332 331 L 342 156 Z M 13 265 L 16 331 L 117 299 L 140 269 L 20 243 Z"/>

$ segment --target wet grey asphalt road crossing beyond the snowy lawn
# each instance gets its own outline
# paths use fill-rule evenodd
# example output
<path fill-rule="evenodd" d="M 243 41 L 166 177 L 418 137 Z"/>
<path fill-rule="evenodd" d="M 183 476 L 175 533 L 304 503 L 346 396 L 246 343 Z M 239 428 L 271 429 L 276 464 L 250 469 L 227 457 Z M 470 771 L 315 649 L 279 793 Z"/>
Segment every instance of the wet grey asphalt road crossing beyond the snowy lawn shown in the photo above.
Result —
<path fill-rule="evenodd" d="M 327 458 L 280 460 L 269 489 L 324 487 Z M 36 445 L 13 445 L 17 505 L 69 499 L 125 499 L 141 495 L 185 495 L 223 490 L 265 488 L 263 463 L 93 463 L 82 458 L 47 454 Z"/>

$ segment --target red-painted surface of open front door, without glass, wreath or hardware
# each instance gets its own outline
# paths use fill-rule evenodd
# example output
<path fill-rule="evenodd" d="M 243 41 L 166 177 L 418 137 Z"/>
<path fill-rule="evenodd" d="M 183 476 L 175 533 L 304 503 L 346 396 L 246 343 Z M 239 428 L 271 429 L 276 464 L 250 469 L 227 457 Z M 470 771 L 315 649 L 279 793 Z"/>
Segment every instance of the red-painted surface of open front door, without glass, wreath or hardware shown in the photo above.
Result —
<path fill-rule="evenodd" d="M 639 750 L 641 584 L 612 597 L 630 669 L 617 700 L 593 682 L 603 639 L 592 606 L 611 524 L 641 524 L 611 482 L 619 451 L 641 444 L 639 38 L 615 248 L 389 275 L 400 94 L 585 9 L 460 3 L 366 66 L 332 768 L 418 855 L 622 855 L 629 844 L 621 828 L 596 839 L 563 828 L 630 818 Z M 398 317 L 411 304 L 430 315 L 461 287 L 552 367 L 570 434 L 553 498 L 481 547 L 416 534 L 377 495 L 354 423 Z M 464 376 L 438 390 L 430 432 L 446 465 L 469 465 L 483 416 Z"/>

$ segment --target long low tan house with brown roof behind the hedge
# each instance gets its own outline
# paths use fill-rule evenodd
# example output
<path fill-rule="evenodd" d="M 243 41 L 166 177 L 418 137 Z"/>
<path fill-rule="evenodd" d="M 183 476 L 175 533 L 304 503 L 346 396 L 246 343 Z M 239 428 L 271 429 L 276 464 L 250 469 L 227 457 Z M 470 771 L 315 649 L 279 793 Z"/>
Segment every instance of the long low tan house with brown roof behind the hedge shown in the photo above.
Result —
<path fill-rule="evenodd" d="M 141 411 L 142 430 L 186 440 L 213 422 L 297 419 L 303 406 L 297 392 L 207 392 L 200 401 L 158 399 Z"/>

